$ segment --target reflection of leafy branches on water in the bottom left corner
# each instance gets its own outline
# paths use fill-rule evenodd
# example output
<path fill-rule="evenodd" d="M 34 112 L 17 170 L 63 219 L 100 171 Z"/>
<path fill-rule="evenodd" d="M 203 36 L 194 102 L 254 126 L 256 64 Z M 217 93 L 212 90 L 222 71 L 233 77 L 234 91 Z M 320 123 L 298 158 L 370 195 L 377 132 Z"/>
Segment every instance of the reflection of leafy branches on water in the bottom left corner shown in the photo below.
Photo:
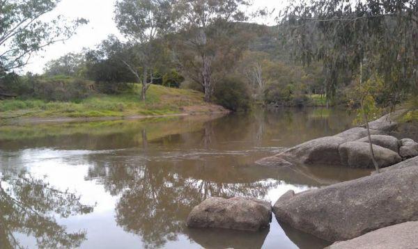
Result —
<path fill-rule="evenodd" d="M 55 219 L 93 211 L 79 202 L 79 196 L 28 172 L 3 172 L 0 179 L 1 248 L 23 248 L 15 233 L 33 236 L 38 248 L 74 248 L 86 239 L 86 232 L 66 232 Z"/>

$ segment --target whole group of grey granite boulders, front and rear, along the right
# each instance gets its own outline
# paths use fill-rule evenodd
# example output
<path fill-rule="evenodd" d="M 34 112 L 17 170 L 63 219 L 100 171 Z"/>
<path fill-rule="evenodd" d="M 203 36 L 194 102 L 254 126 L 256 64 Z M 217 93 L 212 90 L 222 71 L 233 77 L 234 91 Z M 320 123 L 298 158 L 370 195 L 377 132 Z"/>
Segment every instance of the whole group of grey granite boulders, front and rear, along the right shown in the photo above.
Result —
<path fill-rule="evenodd" d="M 274 213 L 279 223 L 335 242 L 328 247 L 332 249 L 416 248 L 418 143 L 383 134 L 394 127 L 387 117 L 371 122 L 370 127 L 376 160 L 387 167 L 380 174 L 302 193 L 288 191 L 273 206 L 254 198 L 208 198 L 194 207 L 187 226 L 258 231 L 269 226 Z M 297 145 L 258 164 L 339 163 L 369 168 L 373 164 L 368 141 L 367 130 L 357 127 Z"/>

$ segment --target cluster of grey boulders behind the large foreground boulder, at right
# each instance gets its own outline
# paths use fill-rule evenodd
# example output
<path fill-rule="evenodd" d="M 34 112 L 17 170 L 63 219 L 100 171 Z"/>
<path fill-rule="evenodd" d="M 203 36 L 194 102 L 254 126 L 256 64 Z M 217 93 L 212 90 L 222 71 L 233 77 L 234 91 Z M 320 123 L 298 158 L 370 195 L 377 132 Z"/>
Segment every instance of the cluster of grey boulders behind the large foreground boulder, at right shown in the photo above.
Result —
<path fill-rule="evenodd" d="M 418 156 L 418 143 L 398 140 L 387 134 L 396 127 L 389 115 L 370 123 L 373 152 L 380 168 Z M 336 134 L 309 140 L 275 156 L 256 161 L 262 166 L 293 166 L 295 164 L 341 165 L 350 168 L 373 168 L 368 131 L 355 127 Z"/>

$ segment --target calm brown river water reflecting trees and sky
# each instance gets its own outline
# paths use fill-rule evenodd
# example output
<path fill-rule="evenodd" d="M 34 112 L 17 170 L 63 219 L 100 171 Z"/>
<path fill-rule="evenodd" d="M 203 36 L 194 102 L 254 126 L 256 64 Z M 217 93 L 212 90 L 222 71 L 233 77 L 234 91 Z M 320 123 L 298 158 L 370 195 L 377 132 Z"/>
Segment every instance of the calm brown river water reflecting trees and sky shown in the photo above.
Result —
<path fill-rule="evenodd" d="M 342 110 L 285 109 L 155 120 L 0 127 L 1 248 L 323 248 L 279 224 L 185 227 L 208 196 L 274 203 L 281 194 L 367 175 L 254 161 L 351 126 Z"/>

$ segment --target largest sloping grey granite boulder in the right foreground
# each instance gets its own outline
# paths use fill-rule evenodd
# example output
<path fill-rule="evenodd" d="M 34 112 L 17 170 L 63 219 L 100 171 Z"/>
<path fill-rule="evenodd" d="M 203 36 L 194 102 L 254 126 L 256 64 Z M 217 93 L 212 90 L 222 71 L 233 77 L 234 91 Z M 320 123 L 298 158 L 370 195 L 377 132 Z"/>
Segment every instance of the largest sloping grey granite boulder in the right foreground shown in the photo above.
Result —
<path fill-rule="evenodd" d="M 277 220 L 327 241 L 418 220 L 418 167 L 389 170 L 277 200 Z"/>

